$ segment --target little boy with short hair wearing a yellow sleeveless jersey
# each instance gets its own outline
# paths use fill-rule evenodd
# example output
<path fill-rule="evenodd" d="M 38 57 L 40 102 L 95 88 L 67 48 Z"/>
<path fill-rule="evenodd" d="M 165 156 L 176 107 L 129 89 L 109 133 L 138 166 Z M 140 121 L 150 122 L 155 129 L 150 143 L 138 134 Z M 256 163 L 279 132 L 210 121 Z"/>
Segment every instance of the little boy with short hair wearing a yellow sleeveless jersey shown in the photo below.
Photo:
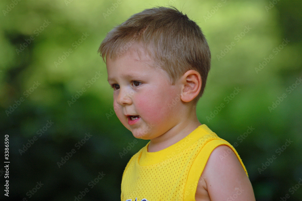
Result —
<path fill-rule="evenodd" d="M 197 119 L 211 55 L 194 21 L 175 7 L 146 9 L 108 32 L 99 52 L 117 117 L 150 140 L 124 170 L 122 201 L 255 200 L 236 150 Z"/>

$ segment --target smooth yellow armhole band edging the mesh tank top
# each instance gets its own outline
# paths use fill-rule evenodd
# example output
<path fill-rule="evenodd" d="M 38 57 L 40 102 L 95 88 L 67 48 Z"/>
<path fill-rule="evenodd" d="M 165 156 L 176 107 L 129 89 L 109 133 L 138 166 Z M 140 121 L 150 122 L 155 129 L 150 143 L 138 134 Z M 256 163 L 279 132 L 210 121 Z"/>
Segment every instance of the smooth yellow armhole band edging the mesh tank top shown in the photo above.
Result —
<path fill-rule="evenodd" d="M 243 164 L 241 158 L 239 157 L 239 154 L 235 150 L 235 148 L 233 148 L 233 146 L 229 142 L 227 142 L 223 139 L 213 139 L 213 140 L 207 142 L 204 145 L 204 147 L 201 148 L 201 151 L 196 156 L 196 158 L 191 166 L 191 169 L 189 170 L 188 179 L 187 179 L 187 182 L 185 185 L 185 190 L 184 190 L 184 199 L 183 199 L 184 201 L 185 200 L 195 201 L 195 193 L 196 193 L 198 181 L 199 181 L 199 178 L 201 177 L 201 174 L 204 170 L 205 165 L 207 164 L 207 160 L 209 159 L 212 151 L 220 145 L 226 145 L 233 150 L 233 152 L 236 154 L 241 166 L 243 167 L 243 170 L 246 172 L 246 175 L 249 176 L 246 171 L 246 167 L 244 166 L 244 164 Z"/>

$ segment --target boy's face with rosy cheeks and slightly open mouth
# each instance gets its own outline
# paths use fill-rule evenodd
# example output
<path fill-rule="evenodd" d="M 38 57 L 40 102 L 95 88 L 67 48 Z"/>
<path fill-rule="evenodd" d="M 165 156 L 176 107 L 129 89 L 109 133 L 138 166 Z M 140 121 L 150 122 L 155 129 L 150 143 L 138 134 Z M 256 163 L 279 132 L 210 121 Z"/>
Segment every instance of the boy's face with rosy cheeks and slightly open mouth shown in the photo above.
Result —
<path fill-rule="evenodd" d="M 168 74 L 149 66 L 150 59 L 136 51 L 106 60 L 108 82 L 113 87 L 114 111 L 133 136 L 153 139 L 177 125 L 179 102 L 172 101 L 181 88 L 171 85 Z M 170 107 L 169 107 L 170 106 Z"/>

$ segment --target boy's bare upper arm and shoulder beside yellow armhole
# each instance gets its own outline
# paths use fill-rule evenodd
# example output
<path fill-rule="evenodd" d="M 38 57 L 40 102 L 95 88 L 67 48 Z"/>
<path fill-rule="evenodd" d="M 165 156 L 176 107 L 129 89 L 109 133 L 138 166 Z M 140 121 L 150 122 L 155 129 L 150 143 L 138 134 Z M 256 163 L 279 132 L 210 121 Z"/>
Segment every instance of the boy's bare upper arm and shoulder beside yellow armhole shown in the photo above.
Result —
<path fill-rule="evenodd" d="M 227 157 L 225 153 L 230 153 Z M 223 159 L 221 159 L 223 158 Z M 226 145 L 218 146 L 211 153 L 201 175 L 211 201 L 255 201 L 249 181 L 235 153 Z M 198 188 L 203 188 L 198 186 Z"/>

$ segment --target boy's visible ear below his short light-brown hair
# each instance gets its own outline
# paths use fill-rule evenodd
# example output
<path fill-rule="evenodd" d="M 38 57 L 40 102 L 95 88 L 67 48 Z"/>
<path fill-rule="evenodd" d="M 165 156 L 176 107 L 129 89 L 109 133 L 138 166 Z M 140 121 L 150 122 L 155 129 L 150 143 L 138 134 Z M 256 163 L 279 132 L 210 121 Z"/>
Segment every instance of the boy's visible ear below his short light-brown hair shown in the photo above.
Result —
<path fill-rule="evenodd" d="M 188 70 L 181 77 L 183 102 L 190 102 L 198 96 L 201 90 L 201 76 L 196 70 Z"/>

